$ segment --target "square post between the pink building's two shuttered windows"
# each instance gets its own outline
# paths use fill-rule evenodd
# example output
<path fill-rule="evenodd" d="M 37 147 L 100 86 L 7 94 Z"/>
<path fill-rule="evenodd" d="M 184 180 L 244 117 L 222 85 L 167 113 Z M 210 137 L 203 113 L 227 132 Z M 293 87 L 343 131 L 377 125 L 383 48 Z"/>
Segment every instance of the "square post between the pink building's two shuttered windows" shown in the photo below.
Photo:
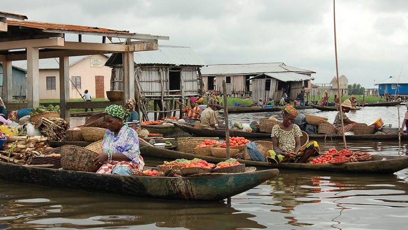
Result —
<path fill-rule="evenodd" d="M 68 57 L 60 57 L 60 108 L 61 118 L 69 121 L 69 59 Z"/>

